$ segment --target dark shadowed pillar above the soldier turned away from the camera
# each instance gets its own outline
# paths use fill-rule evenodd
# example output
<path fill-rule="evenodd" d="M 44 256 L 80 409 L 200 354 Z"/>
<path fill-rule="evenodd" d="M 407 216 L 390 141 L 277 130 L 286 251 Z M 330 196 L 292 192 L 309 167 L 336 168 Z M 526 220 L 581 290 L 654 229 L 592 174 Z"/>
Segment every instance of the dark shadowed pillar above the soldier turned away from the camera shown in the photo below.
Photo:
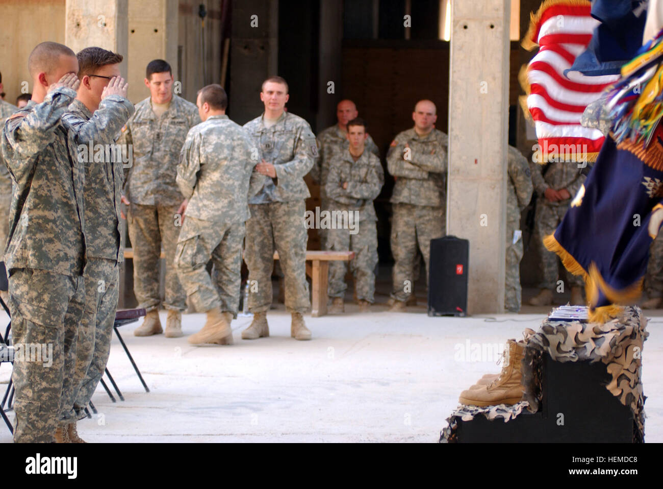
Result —
<path fill-rule="evenodd" d="M 229 116 L 238 124 L 265 110 L 261 84 L 278 72 L 278 0 L 233 0 Z"/>

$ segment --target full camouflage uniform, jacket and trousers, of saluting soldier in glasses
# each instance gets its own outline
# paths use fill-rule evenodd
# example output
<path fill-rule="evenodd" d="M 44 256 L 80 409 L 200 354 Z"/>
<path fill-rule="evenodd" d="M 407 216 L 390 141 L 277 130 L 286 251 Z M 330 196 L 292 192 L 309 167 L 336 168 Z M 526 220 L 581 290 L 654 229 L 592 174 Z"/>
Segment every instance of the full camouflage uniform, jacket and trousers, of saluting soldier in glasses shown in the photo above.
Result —
<path fill-rule="evenodd" d="M 115 143 L 115 137 L 133 111 L 129 100 L 112 95 L 103 99 L 93 114 L 80 100 L 74 100 L 62 116 L 64 125 L 76 134 L 78 159 L 86 176 L 83 193 L 86 307 L 78 330 L 78 387 L 74 385 L 74 391 L 63 392 L 78 419 L 86 415 L 84 408 L 101 380 L 110 354 L 119 298 L 119 263 L 124 261 L 120 197 L 124 183 L 123 156 L 127 157 L 127 153 L 118 153 L 117 147 L 113 148 L 116 151 L 113 155 L 110 145 Z"/>

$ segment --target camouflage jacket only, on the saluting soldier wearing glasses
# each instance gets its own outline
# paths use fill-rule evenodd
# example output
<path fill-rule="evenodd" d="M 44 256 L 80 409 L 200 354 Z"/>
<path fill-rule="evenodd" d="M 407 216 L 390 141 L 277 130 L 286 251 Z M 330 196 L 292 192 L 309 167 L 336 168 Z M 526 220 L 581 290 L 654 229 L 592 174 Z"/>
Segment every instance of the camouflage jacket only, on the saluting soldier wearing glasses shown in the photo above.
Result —
<path fill-rule="evenodd" d="M 62 123 L 76 135 L 78 161 L 85 169 L 86 256 L 124 261 L 120 219 L 120 197 L 124 184 L 122 157 L 115 137 L 133 114 L 129 100 L 111 95 L 90 113 L 74 100 Z M 108 154 L 106 154 L 108 153 Z"/>

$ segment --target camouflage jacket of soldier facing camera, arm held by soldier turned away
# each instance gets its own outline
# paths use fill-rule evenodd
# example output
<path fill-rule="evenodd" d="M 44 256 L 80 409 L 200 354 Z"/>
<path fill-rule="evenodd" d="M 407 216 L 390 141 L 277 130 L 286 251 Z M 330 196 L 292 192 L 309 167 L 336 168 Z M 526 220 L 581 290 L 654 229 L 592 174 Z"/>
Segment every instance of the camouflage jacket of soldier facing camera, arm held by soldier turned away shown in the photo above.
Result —
<path fill-rule="evenodd" d="M 263 114 L 264 115 L 264 114 Z M 251 159 L 265 159 L 276 169 L 276 178 L 251 174 L 249 204 L 292 202 L 311 196 L 304 176 L 318 156 L 316 136 L 310 125 L 294 113 L 284 112 L 272 127 L 265 127 L 263 115 L 244 125 L 251 141 Z"/>

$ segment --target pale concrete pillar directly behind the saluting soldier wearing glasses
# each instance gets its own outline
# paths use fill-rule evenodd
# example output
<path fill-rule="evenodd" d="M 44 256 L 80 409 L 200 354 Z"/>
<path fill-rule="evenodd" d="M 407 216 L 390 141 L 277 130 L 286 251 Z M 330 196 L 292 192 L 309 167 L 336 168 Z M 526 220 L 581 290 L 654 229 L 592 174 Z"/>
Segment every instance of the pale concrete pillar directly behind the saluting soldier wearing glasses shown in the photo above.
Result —
<path fill-rule="evenodd" d="M 124 56 L 120 65 L 127 78 L 128 0 L 67 0 L 65 44 L 74 52 L 97 46 Z"/>

